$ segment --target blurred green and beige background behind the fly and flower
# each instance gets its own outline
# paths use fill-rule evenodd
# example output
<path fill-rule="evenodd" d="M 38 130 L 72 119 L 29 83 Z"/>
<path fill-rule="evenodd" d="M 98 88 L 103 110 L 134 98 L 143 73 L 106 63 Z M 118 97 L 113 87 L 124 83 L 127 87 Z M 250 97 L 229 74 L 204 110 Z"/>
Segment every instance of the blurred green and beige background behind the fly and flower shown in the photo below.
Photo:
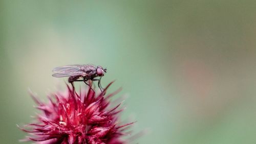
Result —
<path fill-rule="evenodd" d="M 66 79 L 108 68 L 127 95 L 134 143 L 256 143 L 256 1 L 0 1 L 0 143 Z M 80 83 L 82 85 L 82 83 Z M 79 84 L 77 84 L 79 86 Z"/>

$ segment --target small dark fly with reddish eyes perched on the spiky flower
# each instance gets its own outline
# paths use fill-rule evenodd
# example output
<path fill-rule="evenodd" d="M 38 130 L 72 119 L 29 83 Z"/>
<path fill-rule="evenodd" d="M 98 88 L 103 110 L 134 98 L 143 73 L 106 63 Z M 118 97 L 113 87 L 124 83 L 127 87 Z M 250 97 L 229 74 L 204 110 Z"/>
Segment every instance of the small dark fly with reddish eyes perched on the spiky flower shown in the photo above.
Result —
<path fill-rule="evenodd" d="M 100 90 L 102 91 L 102 87 L 100 84 L 101 77 L 104 76 L 104 73 L 106 73 L 106 68 L 103 68 L 101 66 L 95 66 L 91 64 L 83 64 L 83 65 L 65 65 L 56 67 L 53 70 L 53 77 L 61 78 L 61 77 L 69 77 L 69 82 L 72 84 L 73 88 L 73 82 L 77 81 L 83 81 L 87 85 L 88 80 L 91 81 L 98 81 L 98 86 Z M 100 77 L 99 79 L 95 79 L 96 77 Z M 80 78 L 83 78 L 83 80 L 79 80 Z"/>

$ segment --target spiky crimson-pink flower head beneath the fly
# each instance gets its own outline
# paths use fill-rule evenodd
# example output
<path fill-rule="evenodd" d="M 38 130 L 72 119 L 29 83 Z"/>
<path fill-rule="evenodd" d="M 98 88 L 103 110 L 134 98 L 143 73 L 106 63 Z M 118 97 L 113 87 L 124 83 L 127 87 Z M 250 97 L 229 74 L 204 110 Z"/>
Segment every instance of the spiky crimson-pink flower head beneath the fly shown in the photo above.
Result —
<path fill-rule="evenodd" d="M 113 82 L 112 82 L 113 83 Z M 36 123 L 29 124 L 31 130 L 25 140 L 38 143 L 126 143 L 121 140 L 126 126 L 119 124 L 120 104 L 111 106 L 110 98 L 116 93 L 96 94 L 92 88 L 79 94 L 69 86 L 66 93 L 56 93 L 49 97 L 48 104 L 33 98 L 42 114 L 37 115 Z"/>

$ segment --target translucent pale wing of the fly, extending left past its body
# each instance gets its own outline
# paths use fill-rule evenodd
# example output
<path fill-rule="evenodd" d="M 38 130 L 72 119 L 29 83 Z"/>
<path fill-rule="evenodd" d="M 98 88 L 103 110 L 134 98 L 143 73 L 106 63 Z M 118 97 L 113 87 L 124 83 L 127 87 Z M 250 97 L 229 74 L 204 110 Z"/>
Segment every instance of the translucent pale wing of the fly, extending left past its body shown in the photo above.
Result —
<path fill-rule="evenodd" d="M 52 71 L 53 77 L 70 77 L 70 76 L 83 76 L 84 72 L 82 71 L 82 66 L 84 65 L 65 65 L 54 68 Z"/>

